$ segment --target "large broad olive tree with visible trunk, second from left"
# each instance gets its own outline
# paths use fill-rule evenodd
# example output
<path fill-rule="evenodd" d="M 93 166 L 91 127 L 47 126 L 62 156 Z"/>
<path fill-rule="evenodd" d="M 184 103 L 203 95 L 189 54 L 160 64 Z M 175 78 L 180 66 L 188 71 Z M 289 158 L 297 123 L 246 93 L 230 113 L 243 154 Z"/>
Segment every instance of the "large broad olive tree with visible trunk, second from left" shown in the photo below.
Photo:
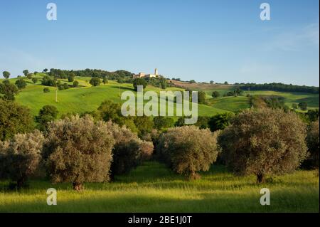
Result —
<path fill-rule="evenodd" d="M 114 139 L 105 122 L 92 117 L 66 117 L 51 122 L 43 144 L 43 159 L 51 180 L 72 182 L 80 190 L 85 181 L 110 180 Z"/>

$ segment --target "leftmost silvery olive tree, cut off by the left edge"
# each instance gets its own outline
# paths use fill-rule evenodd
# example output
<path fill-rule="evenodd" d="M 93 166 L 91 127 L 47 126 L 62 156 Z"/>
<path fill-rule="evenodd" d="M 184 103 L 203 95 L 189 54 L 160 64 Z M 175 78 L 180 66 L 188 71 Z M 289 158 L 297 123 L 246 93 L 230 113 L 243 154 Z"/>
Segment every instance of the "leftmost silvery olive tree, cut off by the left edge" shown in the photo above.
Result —
<path fill-rule="evenodd" d="M 38 169 L 43 140 L 43 134 L 35 130 L 28 134 L 16 134 L 10 142 L 1 142 L 0 172 L 5 172 L 9 179 L 16 181 L 18 189 Z"/>

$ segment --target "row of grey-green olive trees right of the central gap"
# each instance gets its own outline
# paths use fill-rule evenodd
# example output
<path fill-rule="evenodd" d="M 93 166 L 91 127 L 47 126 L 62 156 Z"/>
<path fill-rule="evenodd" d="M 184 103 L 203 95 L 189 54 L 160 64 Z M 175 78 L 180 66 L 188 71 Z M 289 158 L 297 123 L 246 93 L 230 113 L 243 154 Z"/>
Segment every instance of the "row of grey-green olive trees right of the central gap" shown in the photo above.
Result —
<path fill-rule="evenodd" d="M 245 110 L 225 130 L 176 127 L 161 134 L 156 145 L 159 160 L 191 178 L 208 170 L 217 155 L 235 174 L 255 174 L 259 183 L 294 171 L 307 157 L 319 168 L 319 120 L 307 128 L 294 112 Z"/>

